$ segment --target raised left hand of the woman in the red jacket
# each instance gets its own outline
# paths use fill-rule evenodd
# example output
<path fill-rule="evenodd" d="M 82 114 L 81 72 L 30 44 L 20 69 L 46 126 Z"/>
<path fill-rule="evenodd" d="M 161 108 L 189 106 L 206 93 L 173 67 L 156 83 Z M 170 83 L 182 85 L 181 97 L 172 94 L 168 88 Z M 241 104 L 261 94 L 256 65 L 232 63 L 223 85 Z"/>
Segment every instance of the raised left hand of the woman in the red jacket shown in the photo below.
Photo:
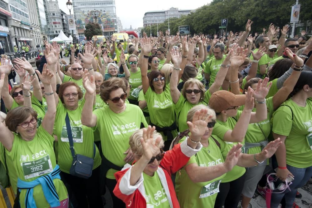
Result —
<path fill-rule="evenodd" d="M 208 109 L 201 109 L 195 112 L 192 122 L 187 122 L 193 141 L 199 141 L 204 135 L 207 123 L 211 118 L 212 115 L 208 116 Z"/>

